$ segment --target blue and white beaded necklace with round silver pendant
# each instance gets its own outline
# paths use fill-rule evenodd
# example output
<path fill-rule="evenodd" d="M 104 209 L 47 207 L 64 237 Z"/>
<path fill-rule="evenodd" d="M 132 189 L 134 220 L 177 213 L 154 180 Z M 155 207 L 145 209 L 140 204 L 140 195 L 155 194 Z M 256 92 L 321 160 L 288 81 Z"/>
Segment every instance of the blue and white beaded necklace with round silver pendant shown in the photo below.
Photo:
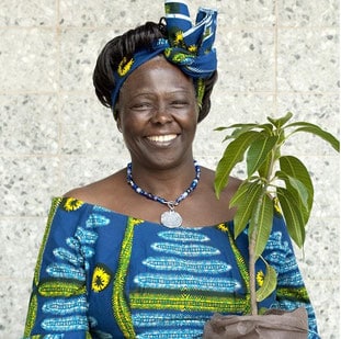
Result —
<path fill-rule="evenodd" d="M 195 188 L 197 187 L 200 174 L 201 174 L 201 168 L 197 165 L 197 162 L 194 160 L 194 168 L 195 168 L 195 178 L 193 179 L 191 185 L 181 194 L 179 195 L 174 201 L 167 201 L 166 199 L 154 195 L 149 192 L 144 191 L 140 187 L 138 187 L 134 180 L 132 174 L 132 162 L 127 165 L 127 183 L 130 185 L 130 188 L 138 194 L 146 196 L 147 199 L 150 199 L 152 201 L 159 202 L 163 205 L 167 205 L 169 211 L 166 211 L 161 214 L 161 224 L 169 228 L 177 228 L 182 225 L 182 217 L 181 215 L 175 212 L 175 207 L 184 200 L 186 199 L 190 193 L 192 193 Z"/>

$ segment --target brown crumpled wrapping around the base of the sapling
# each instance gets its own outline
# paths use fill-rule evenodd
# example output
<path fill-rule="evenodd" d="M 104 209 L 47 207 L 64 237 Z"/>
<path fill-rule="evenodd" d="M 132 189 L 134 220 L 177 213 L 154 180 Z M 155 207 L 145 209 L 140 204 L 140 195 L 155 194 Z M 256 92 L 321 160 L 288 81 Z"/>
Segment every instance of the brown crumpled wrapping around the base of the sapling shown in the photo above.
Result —
<path fill-rule="evenodd" d="M 293 312 L 269 309 L 260 316 L 215 314 L 206 323 L 203 339 L 307 339 L 308 315 L 305 307 Z"/>

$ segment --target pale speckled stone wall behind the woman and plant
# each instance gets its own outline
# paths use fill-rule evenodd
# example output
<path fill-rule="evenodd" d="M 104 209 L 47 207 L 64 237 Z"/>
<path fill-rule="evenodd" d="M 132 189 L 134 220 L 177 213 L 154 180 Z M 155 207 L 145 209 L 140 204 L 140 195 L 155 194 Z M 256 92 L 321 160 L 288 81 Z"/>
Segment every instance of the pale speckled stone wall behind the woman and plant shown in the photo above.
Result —
<path fill-rule="evenodd" d="M 339 133 L 339 1 L 189 1 L 216 7 L 219 81 L 195 155 L 214 168 L 218 125 L 287 110 Z M 92 69 L 114 35 L 163 14 L 163 1 L 2 0 L 0 4 L 0 337 L 20 338 L 52 196 L 110 174 L 128 156 L 98 102 Z M 305 258 L 322 338 L 339 338 L 339 157 L 300 135 L 316 201 Z M 242 174 L 242 173 L 241 173 Z"/>

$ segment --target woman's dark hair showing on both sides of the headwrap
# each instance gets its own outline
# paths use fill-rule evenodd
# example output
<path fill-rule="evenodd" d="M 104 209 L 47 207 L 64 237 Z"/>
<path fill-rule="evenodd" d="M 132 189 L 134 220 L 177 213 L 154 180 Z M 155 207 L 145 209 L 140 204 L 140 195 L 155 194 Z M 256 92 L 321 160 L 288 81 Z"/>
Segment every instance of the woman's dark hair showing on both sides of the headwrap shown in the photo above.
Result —
<path fill-rule="evenodd" d="M 111 93 L 115 88 L 114 72 L 118 64 L 122 61 L 123 57 L 129 59 L 136 52 L 150 47 L 156 39 L 167 37 L 166 24 L 162 21 L 163 18 L 161 18 L 159 23 L 148 21 L 136 29 L 114 37 L 106 43 L 100 53 L 93 71 L 93 84 L 100 102 L 104 106 L 112 109 L 113 113 L 115 108 L 111 101 Z M 200 106 L 198 122 L 201 122 L 211 110 L 211 93 L 216 80 L 217 71 L 214 71 L 209 78 L 204 79 L 205 91 L 202 105 Z"/>

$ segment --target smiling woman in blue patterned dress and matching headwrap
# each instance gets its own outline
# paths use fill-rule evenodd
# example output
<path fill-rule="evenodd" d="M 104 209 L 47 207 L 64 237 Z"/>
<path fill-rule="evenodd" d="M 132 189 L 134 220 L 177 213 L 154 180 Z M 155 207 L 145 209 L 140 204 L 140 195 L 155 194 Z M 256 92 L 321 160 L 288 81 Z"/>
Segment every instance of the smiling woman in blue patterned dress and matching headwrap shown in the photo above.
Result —
<path fill-rule="evenodd" d="M 185 4 L 166 2 L 166 23 L 128 31 L 99 56 L 95 91 L 112 109 L 132 161 L 54 200 L 25 338 L 200 338 L 214 313 L 249 312 L 247 236 L 232 239 L 228 207 L 239 180 L 217 200 L 215 173 L 192 151 L 217 78 L 216 12 L 201 9 L 193 27 Z M 305 304 L 316 338 L 280 216 L 274 244 L 265 253 L 279 269 L 279 290 L 260 307 Z"/>

